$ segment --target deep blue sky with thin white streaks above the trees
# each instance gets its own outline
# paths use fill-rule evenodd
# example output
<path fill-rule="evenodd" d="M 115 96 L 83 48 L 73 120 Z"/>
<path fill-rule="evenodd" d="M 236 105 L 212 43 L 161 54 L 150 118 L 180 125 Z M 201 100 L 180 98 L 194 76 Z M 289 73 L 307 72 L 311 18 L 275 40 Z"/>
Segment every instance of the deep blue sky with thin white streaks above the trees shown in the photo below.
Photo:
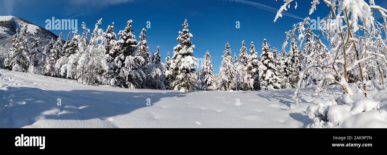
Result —
<path fill-rule="evenodd" d="M 367 0 L 368 1 L 368 0 Z M 0 15 L 14 15 L 21 17 L 41 27 L 45 27 L 46 19 L 77 19 L 78 29 L 86 22 L 89 29 L 102 18 L 100 28 L 106 30 L 111 22 L 115 22 L 115 32 L 123 30 L 127 20 L 133 20 L 136 39 L 140 30 L 145 28 L 147 21 L 151 22 L 151 29 L 147 29 L 147 42 L 151 52 L 160 46 L 163 59 L 166 53 L 173 52 L 178 42 L 178 31 L 182 30 L 184 19 L 188 20 L 195 57 L 203 57 L 209 50 L 212 56 L 214 72 L 219 71 L 222 61 L 224 45 L 229 42 L 232 52 L 239 55 L 241 41 L 245 40 L 247 48 L 253 41 L 260 54 L 262 42 L 281 49 L 285 39 L 284 32 L 291 29 L 293 24 L 301 22 L 297 17 L 312 19 L 325 17 L 329 10 L 324 4 L 317 5 L 317 11 L 308 15 L 311 0 L 298 0 L 298 8 L 294 6 L 287 11 L 292 15 L 284 16 L 273 23 L 278 9 L 283 5 L 282 0 L 250 0 L 255 3 L 236 3 L 231 0 L 0 0 Z M 375 0 L 377 5 L 387 8 L 384 0 Z M 268 7 L 266 7 L 268 6 Z M 377 18 L 380 15 L 376 13 Z M 74 17 L 75 16 L 75 17 Z M 291 17 L 290 17 L 291 16 Z M 378 17 L 379 16 L 379 17 Z M 240 29 L 236 29 L 236 21 L 240 22 Z M 51 30 L 59 35 L 63 31 L 66 39 L 68 30 Z"/>

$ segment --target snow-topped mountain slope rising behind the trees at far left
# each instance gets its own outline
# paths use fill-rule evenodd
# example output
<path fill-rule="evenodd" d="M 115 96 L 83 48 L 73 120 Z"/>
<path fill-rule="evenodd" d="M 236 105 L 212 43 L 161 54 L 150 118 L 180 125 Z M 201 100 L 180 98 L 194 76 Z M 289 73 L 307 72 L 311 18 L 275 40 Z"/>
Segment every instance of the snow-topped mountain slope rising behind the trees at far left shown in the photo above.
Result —
<path fill-rule="evenodd" d="M 29 41 L 32 43 L 34 37 L 40 37 L 42 44 L 47 44 L 51 38 L 55 40 L 57 35 L 43 27 L 35 25 L 27 20 L 15 16 L 0 16 L 0 67 L 3 66 L 4 59 L 12 44 L 12 35 L 16 33 L 19 26 L 28 24 Z M 30 44 L 31 45 L 31 44 Z"/>

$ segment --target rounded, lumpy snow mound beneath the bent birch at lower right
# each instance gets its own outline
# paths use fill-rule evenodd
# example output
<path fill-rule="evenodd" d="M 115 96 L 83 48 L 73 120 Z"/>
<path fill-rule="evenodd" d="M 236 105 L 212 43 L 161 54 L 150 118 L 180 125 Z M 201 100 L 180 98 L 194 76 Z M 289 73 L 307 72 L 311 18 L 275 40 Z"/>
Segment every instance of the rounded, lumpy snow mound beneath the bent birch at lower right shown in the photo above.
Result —
<path fill-rule="evenodd" d="M 356 93 L 357 94 L 357 93 Z M 387 128 L 387 112 L 378 110 L 380 102 L 369 98 L 356 99 L 344 94 L 335 100 L 308 106 L 312 128 Z"/>

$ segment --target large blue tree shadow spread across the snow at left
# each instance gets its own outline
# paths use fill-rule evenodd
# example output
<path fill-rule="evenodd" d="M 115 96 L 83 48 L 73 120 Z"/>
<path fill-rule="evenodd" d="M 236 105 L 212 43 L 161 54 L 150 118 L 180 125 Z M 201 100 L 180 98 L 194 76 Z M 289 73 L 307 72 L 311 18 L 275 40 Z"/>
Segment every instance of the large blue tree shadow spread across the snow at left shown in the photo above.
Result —
<path fill-rule="evenodd" d="M 32 125 L 40 119 L 90 120 L 99 118 L 106 120 L 112 116 L 146 108 L 148 101 L 153 105 L 162 98 L 183 96 L 185 93 L 168 91 L 49 91 L 9 86 L 0 89 L 0 128 L 21 128 Z M 57 105 L 58 99 L 61 100 L 61 106 Z"/>

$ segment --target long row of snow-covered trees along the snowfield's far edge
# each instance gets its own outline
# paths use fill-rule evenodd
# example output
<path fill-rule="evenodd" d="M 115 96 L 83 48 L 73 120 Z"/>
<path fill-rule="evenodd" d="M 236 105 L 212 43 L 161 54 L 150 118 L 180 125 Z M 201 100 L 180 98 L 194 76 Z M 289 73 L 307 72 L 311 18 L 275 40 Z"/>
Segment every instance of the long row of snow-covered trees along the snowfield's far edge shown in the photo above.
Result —
<path fill-rule="evenodd" d="M 324 52 L 319 44 L 307 41 L 298 45 L 291 39 L 289 52 L 278 51 L 264 40 L 262 54 L 258 56 L 253 42 L 248 50 L 242 41 L 239 57 L 231 56 L 227 43 L 219 74 L 213 74 L 211 55 L 207 51 L 200 70 L 196 69 L 187 20 L 179 32 L 179 42 L 161 61 L 159 47 L 151 54 L 146 29 L 142 29 L 139 41 L 132 30 L 132 20 L 127 27 L 114 32 L 114 23 L 106 31 L 99 28 L 98 20 L 92 32 L 82 23 L 82 34 L 72 36 L 69 32 L 63 41 L 62 33 L 57 40 L 42 44 L 37 37 L 32 43 L 27 40 L 27 26 L 19 26 L 12 37 L 12 47 L 5 59 L 5 69 L 45 76 L 77 80 L 83 84 L 107 84 L 121 88 L 172 89 L 188 92 L 197 90 L 243 90 L 295 88 L 299 72 L 309 66 L 311 58 Z M 91 33 L 91 34 L 90 34 Z M 311 36 L 306 36 L 312 40 Z M 30 45 L 31 44 L 31 45 Z M 250 54 L 248 54 L 248 52 Z M 322 83 L 319 77 L 308 71 L 302 76 L 303 86 Z M 355 74 L 349 74 L 359 79 Z M 354 80 L 356 81 L 356 80 Z"/>

